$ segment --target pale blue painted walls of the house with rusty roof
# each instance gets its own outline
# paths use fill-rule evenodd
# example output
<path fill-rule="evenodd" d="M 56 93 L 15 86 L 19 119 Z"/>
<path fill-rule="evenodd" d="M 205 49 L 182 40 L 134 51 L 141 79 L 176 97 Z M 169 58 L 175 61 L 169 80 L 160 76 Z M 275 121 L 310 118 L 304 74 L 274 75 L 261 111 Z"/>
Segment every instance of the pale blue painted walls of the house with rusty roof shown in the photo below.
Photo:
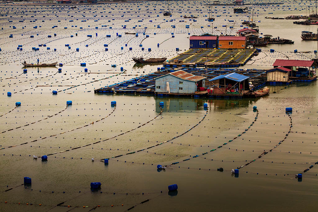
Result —
<path fill-rule="evenodd" d="M 183 81 L 183 85 L 180 85 L 179 81 Z M 194 93 L 197 91 L 196 82 L 179 79 L 169 74 L 156 79 L 156 92 L 168 93 L 166 82 L 169 82 L 170 93 Z M 205 80 L 203 80 L 203 83 L 205 83 Z M 158 85 L 160 86 L 160 89 L 157 89 Z M 182 87 L 183 90 L 180 91 L 179 87 Z"/>

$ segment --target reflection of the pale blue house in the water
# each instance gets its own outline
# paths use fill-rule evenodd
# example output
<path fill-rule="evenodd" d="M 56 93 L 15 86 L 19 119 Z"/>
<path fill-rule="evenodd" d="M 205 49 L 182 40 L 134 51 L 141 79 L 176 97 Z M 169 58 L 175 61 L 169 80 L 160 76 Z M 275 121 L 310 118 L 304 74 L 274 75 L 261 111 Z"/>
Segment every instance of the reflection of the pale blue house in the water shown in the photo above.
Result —
<path fill-rule="evenodd" d="M 194 111 L 203 109 L 204 99 L 156 97 L 156 112 L 160 112 L 159 102 L 164 102 L 163 111 Z"/>

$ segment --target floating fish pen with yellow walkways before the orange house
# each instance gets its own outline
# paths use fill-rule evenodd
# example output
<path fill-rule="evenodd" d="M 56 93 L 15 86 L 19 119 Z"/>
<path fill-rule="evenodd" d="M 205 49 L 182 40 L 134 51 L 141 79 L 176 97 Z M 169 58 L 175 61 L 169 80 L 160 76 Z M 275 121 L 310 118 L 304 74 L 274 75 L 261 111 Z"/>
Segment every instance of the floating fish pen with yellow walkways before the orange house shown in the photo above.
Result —
<path fill-rule="evenodd" d="M 255 54 L 257 49 L 189 49 L 169 61 L 164 62 L 166 67 L 173 66 L 213 66 L 239 67 L 245 65 Z"/>

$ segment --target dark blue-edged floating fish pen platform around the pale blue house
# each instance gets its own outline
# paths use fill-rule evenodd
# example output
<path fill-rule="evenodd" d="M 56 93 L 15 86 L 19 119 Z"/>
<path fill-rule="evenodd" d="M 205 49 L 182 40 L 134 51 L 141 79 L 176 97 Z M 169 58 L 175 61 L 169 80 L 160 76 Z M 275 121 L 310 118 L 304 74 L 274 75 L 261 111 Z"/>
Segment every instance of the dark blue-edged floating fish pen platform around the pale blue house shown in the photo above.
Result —
<path fill-rule="evenodd" d="M 154 73 L 150 73 L 147 75 L 139 76 L 134 79 L 130 80 L 125 80 L 120 83 L 115 83 L 113 85 L 109 85 L 106 87 L 102 87 L 99 89 L 94 90 L 95 93 L 100 93 L 100 94 L 114 94 L 114 93 L 123 93 L 123 94 L 132 94 L 132 93 L 139 93 L 139 94 L 152 94 L 156 95 L 155 93 L 155 83 L 156 80 L 155 78 L 160 77 L 165 74 L 169 74 L 170 72 L 175 72 L 178 70 L 183 70 L 185 72 L 191 73 L 196 76 L 203 76 L 207 77 L 205 86 L 207 87 L 209 85 L 209 79 L 212 79 L 214 77 L 217 77 L 221 74 L 227 74 L 227 73 L 232 73 L 236 72 L 245 76 L 250 77 L 250 81 L 254 85 L 251 87 L 252 91 L 256 91 L 257 89 L 260 89 L 261 87 L 265 86 L 265 81 L 266 81 L 266 70 L 258 70 L 258 69 L 220 69 L 220 68 L 183 68 L 179 67 L 176 69 L 168 68 L 165 69 L 164 67 L 162 68 L 157 68 L 158 71 Z M 158 95 L 169 95 L 167 94 L 158 94 Z M 182 93 L 178 95 L 183 95 Z M 191 94 L 190 96 L 194 97 L 200 97 L 200 96 L 205 96 L 206 93 L 194 93 Z M 231 95 L 229 95 L 231 96 Z"/>

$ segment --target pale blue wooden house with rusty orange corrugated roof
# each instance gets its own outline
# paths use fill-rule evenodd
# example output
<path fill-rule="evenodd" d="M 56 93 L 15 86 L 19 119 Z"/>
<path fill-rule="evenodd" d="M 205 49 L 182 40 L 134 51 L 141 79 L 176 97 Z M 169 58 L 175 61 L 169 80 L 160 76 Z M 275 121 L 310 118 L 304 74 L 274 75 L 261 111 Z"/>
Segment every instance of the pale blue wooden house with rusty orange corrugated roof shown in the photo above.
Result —
<path fill-rule="evenodd" d="M 185 71 L 176 71 L 155 78 L 157 93 L 192 94 L 204 91 L 205 78 Z"/>

